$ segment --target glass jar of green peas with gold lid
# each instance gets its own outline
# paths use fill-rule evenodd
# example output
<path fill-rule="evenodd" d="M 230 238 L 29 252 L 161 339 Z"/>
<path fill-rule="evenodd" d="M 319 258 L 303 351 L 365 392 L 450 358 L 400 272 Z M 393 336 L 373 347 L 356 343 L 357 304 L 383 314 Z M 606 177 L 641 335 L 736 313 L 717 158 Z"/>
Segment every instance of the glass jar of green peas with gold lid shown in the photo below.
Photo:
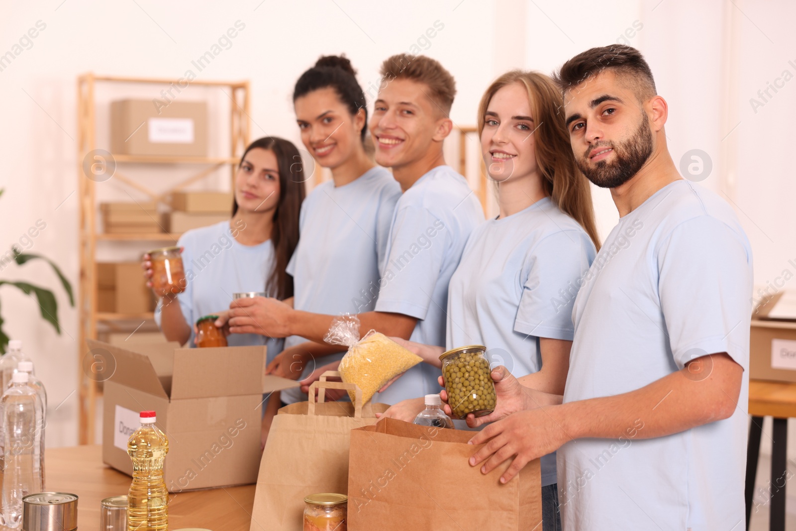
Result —
<path fill-rule="evenodd" d="M 455 418 L 463 419 L 468 413 L 484 416 L 494 411 L 497 396 L 490 362 L 484 353 L 485 346 L 470 345 L 448 350 L 439 357 L 443 362 L 447 401 Z"/>

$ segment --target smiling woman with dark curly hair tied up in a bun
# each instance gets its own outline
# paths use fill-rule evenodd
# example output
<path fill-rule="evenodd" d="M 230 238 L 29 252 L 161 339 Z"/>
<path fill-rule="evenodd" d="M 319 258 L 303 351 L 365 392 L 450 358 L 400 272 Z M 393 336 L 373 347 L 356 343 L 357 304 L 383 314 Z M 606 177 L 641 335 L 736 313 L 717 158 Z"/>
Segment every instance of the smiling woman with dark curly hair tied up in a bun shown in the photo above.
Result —
<path fill-rule="evenodd" d="M 302 205 L 298 246 L 287 265 L 295 286 L 293 306 L 320 314 L 373 310 L 378 264 L 401 192 L 392 174 L 368 153 L 365 93 L 351 62 L 344 56 L 318 59 L 298 78 L 293 103 L 302 143 L 332 173 Z M 340 359 L 338 349 L 291 336 L 267 372 L 298 379 Z M 271 399 L 271 415 L 280 399 L 292 403 L 306 400 L 306 394 L 283 391 Z"/>

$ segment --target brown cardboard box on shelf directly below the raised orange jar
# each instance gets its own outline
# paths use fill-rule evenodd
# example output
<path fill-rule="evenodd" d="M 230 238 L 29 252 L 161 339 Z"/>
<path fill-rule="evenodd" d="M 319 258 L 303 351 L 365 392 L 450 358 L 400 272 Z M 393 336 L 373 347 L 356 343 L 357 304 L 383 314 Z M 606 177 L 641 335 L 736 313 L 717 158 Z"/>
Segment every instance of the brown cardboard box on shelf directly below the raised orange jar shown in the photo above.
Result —
<path fill-rule="evenodd" d="M 144 314 L 154 311 L 154 306 L 140 262 L 97 263 L 97 311 Z"/>

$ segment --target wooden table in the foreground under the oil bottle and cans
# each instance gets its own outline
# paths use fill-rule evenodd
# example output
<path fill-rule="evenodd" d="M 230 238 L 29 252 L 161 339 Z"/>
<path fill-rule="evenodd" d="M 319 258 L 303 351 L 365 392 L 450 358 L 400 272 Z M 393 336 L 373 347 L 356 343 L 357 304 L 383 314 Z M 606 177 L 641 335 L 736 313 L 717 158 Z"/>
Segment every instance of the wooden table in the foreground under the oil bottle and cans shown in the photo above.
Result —
<path fill-rule="evenodd" d="M 100 529 L 100 501 L 127 494 L 131 478 L 102 462 L 102 447 L 51 448 L 45 454 L 48 491 L 77 494 L 78 529 Z M 254 485 L 171 494 L 169 529 L 203 527 L 213 531 L 248 531 Z"/>

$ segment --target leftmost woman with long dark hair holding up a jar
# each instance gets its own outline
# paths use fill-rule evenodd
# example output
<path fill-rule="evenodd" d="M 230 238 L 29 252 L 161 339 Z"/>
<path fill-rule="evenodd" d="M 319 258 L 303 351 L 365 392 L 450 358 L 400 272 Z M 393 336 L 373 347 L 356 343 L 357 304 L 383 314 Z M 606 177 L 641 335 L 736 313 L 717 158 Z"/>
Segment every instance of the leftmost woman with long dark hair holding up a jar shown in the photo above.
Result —
<path fill-rule="evenodd" d="M 155 320 L 169 341 L 193 344 L 198 318 L 224 311 L 239 291 L 293 296 L 285 268 L 298 244 L 298 213 L 304 200 L 301 155 L 289 141 L 255 140 L 240 158 L 232 200 L 232 218 L 185 232 L 178 240 L 187 284 L 178 295 L 158 301 Z M 152 286 L 150 256 L 143 257 L 147 286 Z M 174 303 L 177 304 L 174 304 Z M 230 346 L 263 345 L 259 334 L 230 334 Z M 283 342 L 267 340 L 270 360 Z"/>

